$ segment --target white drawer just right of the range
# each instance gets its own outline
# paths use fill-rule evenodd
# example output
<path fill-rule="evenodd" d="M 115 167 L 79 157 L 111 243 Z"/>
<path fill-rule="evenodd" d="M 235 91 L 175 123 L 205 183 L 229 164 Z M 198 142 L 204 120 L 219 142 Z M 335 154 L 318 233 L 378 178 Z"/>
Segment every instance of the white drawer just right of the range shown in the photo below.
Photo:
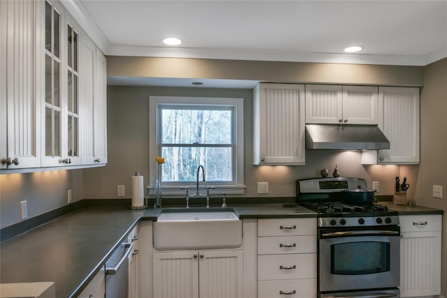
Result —
<path fill-rule="evenodd" d="M 441 231 L 442 215 L 404 215 L 399 216 L 401 232 Z"/>

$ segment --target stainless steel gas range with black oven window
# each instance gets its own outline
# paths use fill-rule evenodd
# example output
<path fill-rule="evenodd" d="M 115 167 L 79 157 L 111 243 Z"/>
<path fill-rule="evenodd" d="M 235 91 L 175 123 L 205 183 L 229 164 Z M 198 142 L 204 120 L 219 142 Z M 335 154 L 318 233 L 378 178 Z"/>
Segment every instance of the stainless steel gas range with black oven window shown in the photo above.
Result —
<path fill-rule="evenodd" d="M 397 212 L 352 204 L 344 190 L 364 179 L 298 180 L 297 202 L 318 212 L 318 295 L 399 297 L 400 228 Z"/>

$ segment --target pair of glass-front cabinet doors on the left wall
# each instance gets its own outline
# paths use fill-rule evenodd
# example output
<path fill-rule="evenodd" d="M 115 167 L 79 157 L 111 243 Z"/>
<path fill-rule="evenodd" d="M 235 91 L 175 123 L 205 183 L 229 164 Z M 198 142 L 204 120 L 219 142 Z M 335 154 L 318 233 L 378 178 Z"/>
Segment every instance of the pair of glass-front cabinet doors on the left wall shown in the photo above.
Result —
<path fill-rule="evenodd" d="M 80 164 L 79 32 L 59 3 L 45 1 L 44 167 Z"/>

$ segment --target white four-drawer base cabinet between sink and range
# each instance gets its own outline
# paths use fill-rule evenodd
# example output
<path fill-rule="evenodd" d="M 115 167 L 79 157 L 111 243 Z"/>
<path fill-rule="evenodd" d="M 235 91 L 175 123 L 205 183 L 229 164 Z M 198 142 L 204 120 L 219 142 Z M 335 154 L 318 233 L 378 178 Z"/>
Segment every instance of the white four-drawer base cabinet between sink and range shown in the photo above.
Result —
<path fill-rule="evenodd" d="M 258 297 L 316 297 L 316 218 L 258 220 Z"/>

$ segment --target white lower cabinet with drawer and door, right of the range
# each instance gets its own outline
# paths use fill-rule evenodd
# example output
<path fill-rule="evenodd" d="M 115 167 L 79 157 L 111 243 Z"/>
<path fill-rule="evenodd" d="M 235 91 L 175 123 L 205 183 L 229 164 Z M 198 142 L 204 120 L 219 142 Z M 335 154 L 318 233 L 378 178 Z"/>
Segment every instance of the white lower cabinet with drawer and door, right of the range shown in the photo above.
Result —
<path fill-rule="evenodd" d="M 441 294 L 442 215 L 400 216 L 400 297 Z"/>

